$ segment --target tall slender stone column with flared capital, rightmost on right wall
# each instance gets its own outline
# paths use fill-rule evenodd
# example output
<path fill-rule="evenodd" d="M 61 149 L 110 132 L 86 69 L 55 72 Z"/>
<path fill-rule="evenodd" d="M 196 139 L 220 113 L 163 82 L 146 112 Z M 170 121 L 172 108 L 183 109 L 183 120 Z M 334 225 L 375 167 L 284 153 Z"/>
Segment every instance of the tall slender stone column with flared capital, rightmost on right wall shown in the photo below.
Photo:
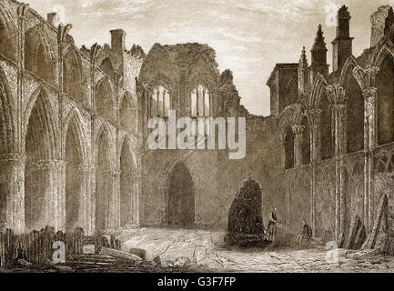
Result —
<path fill-rule="evenodd" d="M 378 89 L 375 77 L 379 67 L 359 65 L 353 69 L 353 75 L 359 83 L 364 97 L 364 215 L 363 222 L 367 233 L 371 231 L 373 223 L 373 198 L 374 198 L 374 151 L 378 145 L 378 117 L 377 98 Z"/>

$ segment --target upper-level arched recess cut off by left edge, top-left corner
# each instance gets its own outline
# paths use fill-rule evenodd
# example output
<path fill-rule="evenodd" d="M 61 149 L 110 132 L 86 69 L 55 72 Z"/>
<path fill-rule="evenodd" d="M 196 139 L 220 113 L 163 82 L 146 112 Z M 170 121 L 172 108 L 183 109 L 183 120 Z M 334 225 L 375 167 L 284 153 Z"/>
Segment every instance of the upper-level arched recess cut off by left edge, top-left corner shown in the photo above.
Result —
<path fill-rule="evenodd" d="M 0 6 L 0 54 L 14 61 L 16 60 L 16 34 L 13 20 Z"/>

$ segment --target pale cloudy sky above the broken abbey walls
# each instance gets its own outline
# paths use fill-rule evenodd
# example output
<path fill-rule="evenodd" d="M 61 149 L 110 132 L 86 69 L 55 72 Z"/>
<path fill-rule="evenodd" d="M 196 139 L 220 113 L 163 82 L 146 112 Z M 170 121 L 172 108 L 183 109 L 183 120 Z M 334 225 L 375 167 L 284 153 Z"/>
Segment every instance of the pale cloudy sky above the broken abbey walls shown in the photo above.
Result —
<path fill-rule="evenodd" d="M 331 65 L 332 11 L 348 5 L 353 54 L 369 47 L 370 15 L 394 0 L 25 0 L 40 15 L 64 7 L 77 46 L 110 44 L 109 30 L 126 31 L 126 48 L 197 42 L 217 52 L 220 72 L 229 68 L 251 114 L 269 115 L 268 77 L 276 63 L 297 63 L 322 24 Z"/>

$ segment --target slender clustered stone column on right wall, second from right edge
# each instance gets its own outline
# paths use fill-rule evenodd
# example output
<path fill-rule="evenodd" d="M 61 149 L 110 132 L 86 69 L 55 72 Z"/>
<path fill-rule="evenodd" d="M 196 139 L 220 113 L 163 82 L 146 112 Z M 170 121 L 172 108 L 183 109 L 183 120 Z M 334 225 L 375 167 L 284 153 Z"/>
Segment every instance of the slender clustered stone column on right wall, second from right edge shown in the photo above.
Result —
<path fill-rule="evenodd" d="M 336 173 L 336 199 L 335 213 L 336 224 L 335 234 L 338 239 L 339 234 L 345 233 L 345 166 L 343 155 L 346 153 L 346 96 L 345 90 L 338 84 L 328 85 L 326 88 L 328 100 L 332 106 L 334 114 L 334 137 L 335 137 L 335 173 Z"/>

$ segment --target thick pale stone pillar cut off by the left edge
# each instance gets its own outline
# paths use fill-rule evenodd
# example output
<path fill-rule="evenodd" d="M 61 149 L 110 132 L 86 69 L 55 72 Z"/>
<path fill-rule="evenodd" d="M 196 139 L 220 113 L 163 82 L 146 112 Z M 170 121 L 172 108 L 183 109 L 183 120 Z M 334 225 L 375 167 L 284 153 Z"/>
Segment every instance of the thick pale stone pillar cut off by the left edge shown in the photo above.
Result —
<path fill-rule="evenodd" d="M 25 156 L 0 156 L 0 232 L 25 232 Z"/>

